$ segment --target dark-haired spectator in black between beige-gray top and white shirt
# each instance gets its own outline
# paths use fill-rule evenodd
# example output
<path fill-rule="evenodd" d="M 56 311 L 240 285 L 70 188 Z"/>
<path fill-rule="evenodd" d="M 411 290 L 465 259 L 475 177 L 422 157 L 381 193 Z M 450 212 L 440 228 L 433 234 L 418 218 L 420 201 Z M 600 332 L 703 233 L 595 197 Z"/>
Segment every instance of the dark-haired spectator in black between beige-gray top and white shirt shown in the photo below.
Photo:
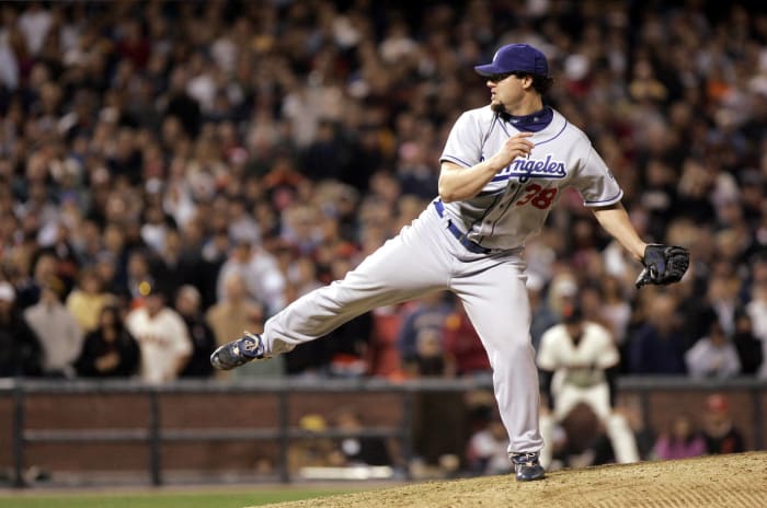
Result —
<path fill-rule="evenodd" d="M 84 378 L 130 378 L 138 373 L 140 351 L 125 327 L 116 305 L 101 309 L 99 323 L 85 334 L 80 356 L 75 361 L 78 376 Z"/>

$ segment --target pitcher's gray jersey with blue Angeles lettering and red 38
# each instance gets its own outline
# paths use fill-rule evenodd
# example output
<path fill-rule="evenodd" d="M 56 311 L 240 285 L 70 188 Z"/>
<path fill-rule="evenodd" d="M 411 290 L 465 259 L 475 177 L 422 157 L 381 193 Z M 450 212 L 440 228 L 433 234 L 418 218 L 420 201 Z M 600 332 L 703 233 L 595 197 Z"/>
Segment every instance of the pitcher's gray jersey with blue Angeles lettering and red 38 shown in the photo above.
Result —
<path fill-rule="evenodd" d="M 517 132 L 490 106 L 468 111 L 454 125 L 440 161 L 471 168 Z M 444 205 L 469 240 L 489 249 L 524 246 L 568 186 L 581 193 L 585 206 L 611 205 L 623 196 L 586 135 L 558 112 L 529 139 L 535 145 L 529 157 L 515 159 L 474 198 Z"/>

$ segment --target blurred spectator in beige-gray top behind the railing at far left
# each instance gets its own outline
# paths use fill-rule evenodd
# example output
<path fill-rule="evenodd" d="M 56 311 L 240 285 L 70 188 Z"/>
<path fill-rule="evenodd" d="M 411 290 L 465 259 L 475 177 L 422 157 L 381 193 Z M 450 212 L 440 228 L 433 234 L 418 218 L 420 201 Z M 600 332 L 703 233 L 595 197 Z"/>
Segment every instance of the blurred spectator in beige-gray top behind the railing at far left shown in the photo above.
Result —
<path fill-rule="evenodd" d="M 73 362 L 82 349 L 83 334 L 75 316 L 61 303 L 64 282 L 55 276 L 41 287 L 37 303 L 24 311 L 24 320 L 43 346 L 43 373 L 73 378 Z"/>

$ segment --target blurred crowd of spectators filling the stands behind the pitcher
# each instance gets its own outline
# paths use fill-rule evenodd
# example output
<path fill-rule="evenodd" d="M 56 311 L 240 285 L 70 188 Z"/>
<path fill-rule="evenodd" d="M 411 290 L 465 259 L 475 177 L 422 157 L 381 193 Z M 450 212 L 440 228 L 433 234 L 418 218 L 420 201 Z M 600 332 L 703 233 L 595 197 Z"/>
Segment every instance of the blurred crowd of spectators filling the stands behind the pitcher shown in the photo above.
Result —
<path fill-rule="evenodd" d="M 214 376 L 217 344 L 343 277 L 436 196 L 472 66 L 549 57 L 639 264 L 562 197 L 527 245 L 534 344 L 569 300 L 621 372 L 767 378 L 767 15 L 737 2 L 24 2 L 0 28 L 0 377 Z M 515 323 L 508 323 L 515 326 Z M 248 366 L 251 367 L 251 366 Z M 234 376 L 470 376 L 459 303 L 376 309 Z"/>

